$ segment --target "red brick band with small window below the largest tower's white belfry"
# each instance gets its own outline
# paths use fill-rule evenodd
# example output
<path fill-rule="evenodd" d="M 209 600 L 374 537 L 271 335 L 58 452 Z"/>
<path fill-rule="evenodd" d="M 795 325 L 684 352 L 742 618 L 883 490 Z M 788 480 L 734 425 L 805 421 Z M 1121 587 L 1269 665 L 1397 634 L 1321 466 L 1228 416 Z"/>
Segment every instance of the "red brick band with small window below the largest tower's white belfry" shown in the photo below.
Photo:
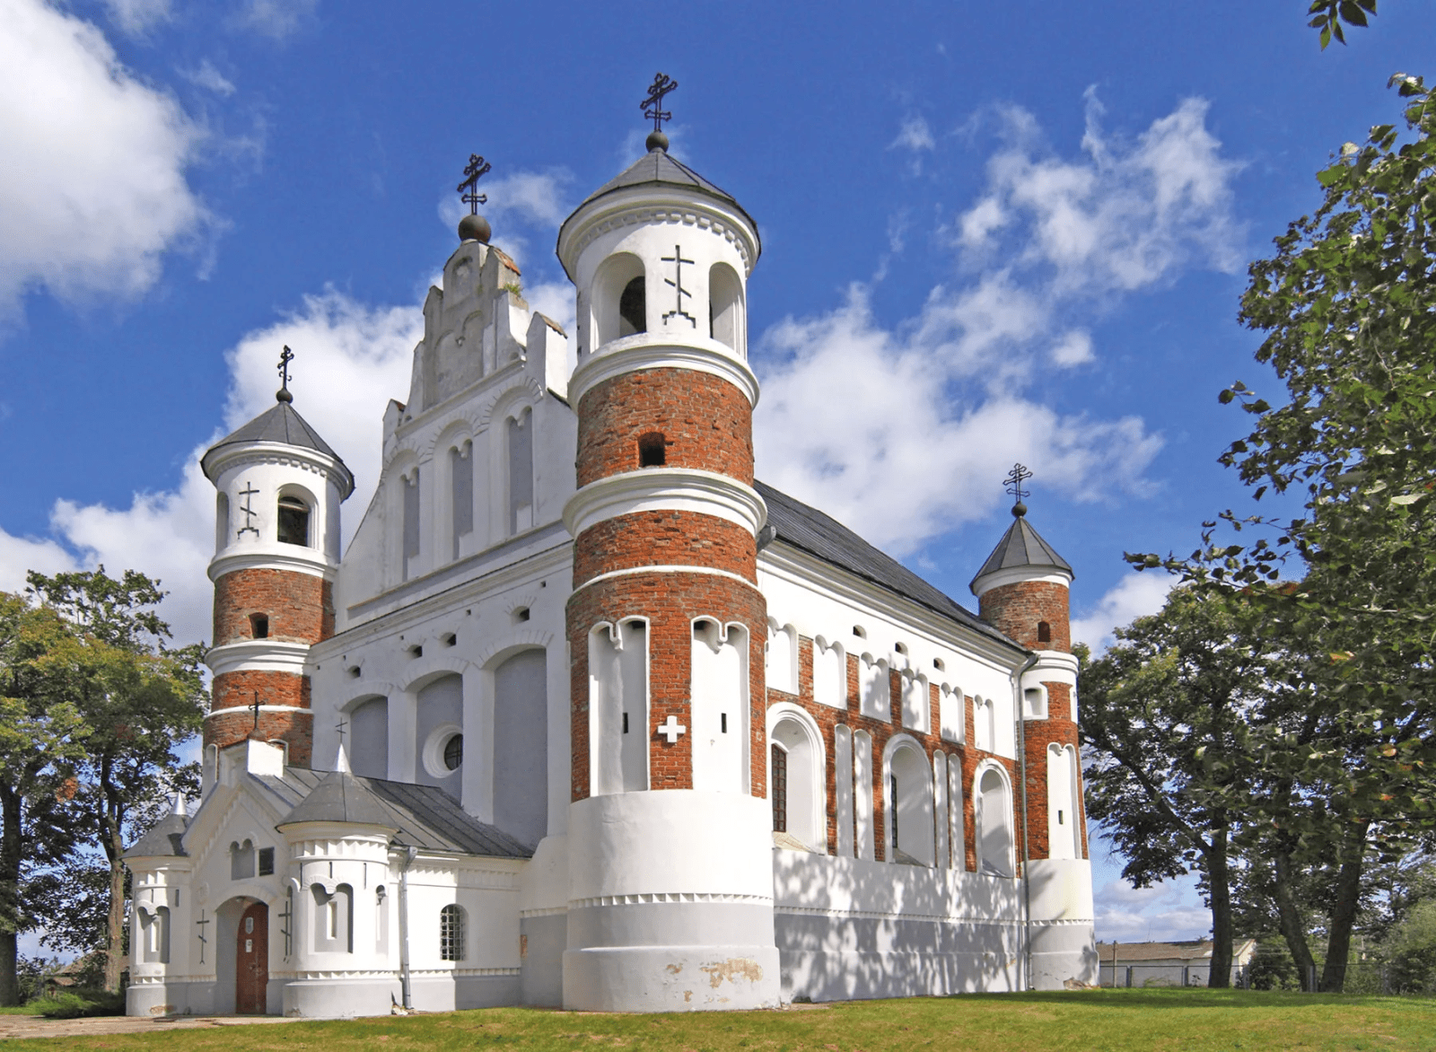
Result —
<path fill-rule="evenodd" d="M 606 379 L 579 404 L 579 486 L 636 471 L 638 440 L 663 435 L 665 467 L 718 471 L 752 484 L 752 407 L 721 377 L 639 369 Z"/>

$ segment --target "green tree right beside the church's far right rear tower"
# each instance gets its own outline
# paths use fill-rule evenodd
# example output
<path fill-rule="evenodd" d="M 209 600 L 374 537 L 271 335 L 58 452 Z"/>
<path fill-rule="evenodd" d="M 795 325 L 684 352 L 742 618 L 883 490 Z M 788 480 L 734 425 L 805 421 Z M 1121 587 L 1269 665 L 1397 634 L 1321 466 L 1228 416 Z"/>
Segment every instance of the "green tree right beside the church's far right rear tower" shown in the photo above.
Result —
<path fill-rule="evenodd" d="M 1232 839 L 1259 780 L 1255 740 L 1302 694 L 1279 642 L 1254 628 L 1242 601 L 1179 588 L 1100 658 L 1078 655 L 1088 815 L 1133 885 L 1200 874 L 1215 987 L 1231 984 Z"/>

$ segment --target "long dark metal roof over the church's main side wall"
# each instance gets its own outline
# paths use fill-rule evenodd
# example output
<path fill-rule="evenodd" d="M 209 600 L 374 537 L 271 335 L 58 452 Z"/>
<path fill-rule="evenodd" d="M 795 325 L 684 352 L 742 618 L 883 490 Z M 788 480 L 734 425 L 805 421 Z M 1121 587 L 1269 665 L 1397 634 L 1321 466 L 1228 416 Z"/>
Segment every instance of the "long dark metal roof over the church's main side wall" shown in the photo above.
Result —
<path fill-rule="evenodd" d="M 987 621 L 929 585 L 890 555 L 879 552 L 831 516 L 794 500 L 767 483 L 755 481 L 754 487 L 768 506 L 768 526 L 777 532 L 777 540 L 801 548 L 824 562 L 922 604 L 928 609 L 949 617 L 984 635 L 1017 645 Z"/>

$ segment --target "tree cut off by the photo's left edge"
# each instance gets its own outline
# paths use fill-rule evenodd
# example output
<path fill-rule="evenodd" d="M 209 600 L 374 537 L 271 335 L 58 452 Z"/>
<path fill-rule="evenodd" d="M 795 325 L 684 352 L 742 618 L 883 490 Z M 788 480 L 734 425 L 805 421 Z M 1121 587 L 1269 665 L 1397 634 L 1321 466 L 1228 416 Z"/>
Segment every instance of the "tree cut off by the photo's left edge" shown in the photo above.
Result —
<path fill-rule="evenodd" d="M 20 997 L 16 940 L 33 927 L 27 872 L 70 845 L 53 818 L 83 724 L 50 660 L 67 638 L 53 609 L 0 592 L 0 1005 Z"/>

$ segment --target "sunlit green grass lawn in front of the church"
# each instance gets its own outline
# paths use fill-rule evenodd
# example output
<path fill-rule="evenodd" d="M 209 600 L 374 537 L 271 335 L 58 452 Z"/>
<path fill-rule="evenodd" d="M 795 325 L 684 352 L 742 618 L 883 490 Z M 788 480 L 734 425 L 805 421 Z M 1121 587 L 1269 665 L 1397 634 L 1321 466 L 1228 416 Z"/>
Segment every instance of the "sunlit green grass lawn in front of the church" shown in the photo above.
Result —
<path fill-rule="evenodd" d="M 6 1042 L 45 1049 L 1436 1049 L 1436 1002 L 1241 990 L 971 995 L 665 1016 L 482 1009 Z M 19 1049 L 16 1048 L 16 1052 Z"/>

